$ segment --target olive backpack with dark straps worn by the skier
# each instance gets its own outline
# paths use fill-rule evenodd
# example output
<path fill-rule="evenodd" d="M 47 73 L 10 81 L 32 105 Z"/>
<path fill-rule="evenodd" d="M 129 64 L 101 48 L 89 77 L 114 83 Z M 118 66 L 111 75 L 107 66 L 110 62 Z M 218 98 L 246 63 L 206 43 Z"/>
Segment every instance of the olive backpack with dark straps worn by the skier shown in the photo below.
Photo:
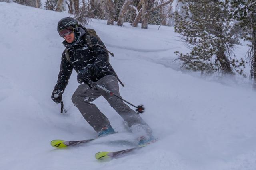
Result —
<path fill-rule="evenodd" d="M 82 25 L 79 25 L 80 27 L 82 27 L 86 32 L 87 32 L 87 35 L 84 38 L 84 41 L 86 42 L 86 44 L 88 44 L 89 48 L 90 48 L 90 51 L 94 51 L 93 50 L 93 46 L 94 45 L 98 45 L 102 48 L 104 48 L 106 51 L 108 51 L 108 49 L 106 48 L 106 46 L 104 45 L 104 43 L 101 41 L 100 37 L 97 35 L 96 31 L 94 29 L 90 29 L 90 28 L 85 28 L 83 27 Z M 92 41 L 91 41 L 91 36 L 94 36 L 98 39 L 99 42 L 101 42 L 103 45 L 99 45 L 99 44 L 92 44 Z M 68 49 L 66 48 L 65 51 L 65 57 L 66 59 L 70 61 L 70 56 L 69 56 L 69 53 L 68 53 Z M 110 51 L 108 51 L 108 53 L 114 57 L 114 53 L 111 53 Z M 109 62 L 109 55 L 108 55 L 108 62 Z M 114 73 L 116 74 L 116 72 L 114 71 Z M 121 80 L 118 78 L 117 74 L 116 74 L 116 78 L 118 80 L 118 82 L 124 87 L 124 84 L 121 82 Z"/>

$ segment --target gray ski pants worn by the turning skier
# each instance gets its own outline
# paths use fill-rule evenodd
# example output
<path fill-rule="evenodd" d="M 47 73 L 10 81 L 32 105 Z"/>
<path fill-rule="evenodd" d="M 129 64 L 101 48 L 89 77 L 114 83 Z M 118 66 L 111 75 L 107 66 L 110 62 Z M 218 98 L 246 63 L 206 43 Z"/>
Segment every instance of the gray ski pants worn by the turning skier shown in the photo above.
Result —
<path fill-rule="evenodd" d="M 115 76 L 104 76 L 96 83 L 121 97 L 118 81 Z M 98 107 L 96 107 L 95 104 L 91 103 L 101 95 L 124 119 L 126 125 L 130 127 L 133 133 L 140 133 L 142 135 L 144 135 L 144 133 L 146 133 L 146 135 L 152 133 L 151 128 L 145 123 L 145 121 L 143 121 L 142 118 L 134 110 L 130 109 L 130 107 L 121 99 L 110 95 L 102 89 L 96 89 L 95 87 L 90 89 L 87 84 L 81 84 L 74 92 L 72 102 L 96 132 L 99 132 L 102 127 L 110 124 L 108 118 L 98 109 Z"/>

